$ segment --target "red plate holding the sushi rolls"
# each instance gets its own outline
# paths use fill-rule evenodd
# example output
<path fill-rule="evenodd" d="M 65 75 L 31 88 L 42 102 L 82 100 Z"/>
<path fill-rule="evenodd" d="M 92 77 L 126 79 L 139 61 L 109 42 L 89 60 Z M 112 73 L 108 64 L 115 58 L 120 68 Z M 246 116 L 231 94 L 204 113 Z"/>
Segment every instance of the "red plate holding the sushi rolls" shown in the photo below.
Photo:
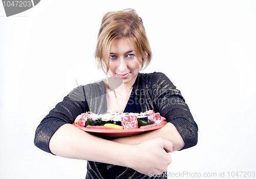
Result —
<path fill-rule="evenodd" d="M 127 129 L 127 130 L 118 130 L 118 129 L 90 129 L 86 127 L 79 127 L 77 126 L 80 130 L 86 131 L 86 132 L 92 132 L 92 133 L 99 133 L 102 134 L 103 136 L 134 136 L 136 134 L 144 133 L 146 131 L 152 131 L 156 129 L 160 129 L 167 123 L 166 120 L 162 121 L 161 124 L 153 126 L 153 127 L 148 127 L 146 129 Z M 75 123 L 73 123 L 75 125 Z M 76 126 L 76 125 L 75 125 Z"/>

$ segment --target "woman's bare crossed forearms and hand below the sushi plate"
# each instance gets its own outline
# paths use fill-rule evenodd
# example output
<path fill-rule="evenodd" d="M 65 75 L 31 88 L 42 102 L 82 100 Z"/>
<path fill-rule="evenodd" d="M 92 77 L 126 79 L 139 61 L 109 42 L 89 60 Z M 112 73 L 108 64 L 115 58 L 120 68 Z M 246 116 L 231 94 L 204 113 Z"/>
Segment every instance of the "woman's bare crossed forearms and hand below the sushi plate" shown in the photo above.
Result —
<path fill-rule="evenodd" d="M 112 141 L 64 124 L 49 142 L 51 152 L 57 156 L 125 166 L 144 174 L 166 171 L 172 162 L 168 152 L 183 146 L 179 132 L 170 122 L 155 131 Z"/>

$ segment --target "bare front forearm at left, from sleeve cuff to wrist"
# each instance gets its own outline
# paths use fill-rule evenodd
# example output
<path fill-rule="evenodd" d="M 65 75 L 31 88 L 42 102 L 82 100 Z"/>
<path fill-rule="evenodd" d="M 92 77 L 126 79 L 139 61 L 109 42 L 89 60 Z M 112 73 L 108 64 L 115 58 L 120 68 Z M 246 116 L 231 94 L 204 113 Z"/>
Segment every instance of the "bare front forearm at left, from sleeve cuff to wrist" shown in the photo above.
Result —
<path fill-rule="evenodd" d="M 121 166 L 125 165 L 122 161 L 126 159 L 120 151 L 130 146 L 101 139 L 72 124 L 64 124 L 59 127 L 49 142 L 51 152 L 57 156 Z M 114 155 L 116 158 L 113 157 Z"/>

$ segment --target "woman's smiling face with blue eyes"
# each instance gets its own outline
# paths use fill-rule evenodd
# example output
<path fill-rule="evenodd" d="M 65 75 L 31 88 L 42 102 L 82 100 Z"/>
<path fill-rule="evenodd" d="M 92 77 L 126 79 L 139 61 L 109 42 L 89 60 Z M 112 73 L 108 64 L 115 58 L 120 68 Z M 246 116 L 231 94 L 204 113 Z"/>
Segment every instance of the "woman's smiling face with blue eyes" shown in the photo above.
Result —
<path fill-rule="evenodd" d="M 139 58 L 127 37 L 114 40 L 110 47 L 109 74 L 121 78 L 125 84 L 133 85 L 141 68 Z"/>

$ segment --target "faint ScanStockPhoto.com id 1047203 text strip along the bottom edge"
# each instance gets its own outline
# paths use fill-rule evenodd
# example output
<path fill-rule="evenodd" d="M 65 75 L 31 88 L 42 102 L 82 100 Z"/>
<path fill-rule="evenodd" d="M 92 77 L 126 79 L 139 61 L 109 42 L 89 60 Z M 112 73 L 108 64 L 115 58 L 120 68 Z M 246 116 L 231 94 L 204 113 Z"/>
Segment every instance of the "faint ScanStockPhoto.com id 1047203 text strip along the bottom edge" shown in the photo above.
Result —
<path fill-rule="evenodd" d="M 148 172 L 148 176 L 157 177 L 255 177 L 255 171 L 219 171 L 219 172 L 189 172 L 189 171 L 179 171 L 170 172 L 166 171 L 164 173 L 153 173 Z"/>

